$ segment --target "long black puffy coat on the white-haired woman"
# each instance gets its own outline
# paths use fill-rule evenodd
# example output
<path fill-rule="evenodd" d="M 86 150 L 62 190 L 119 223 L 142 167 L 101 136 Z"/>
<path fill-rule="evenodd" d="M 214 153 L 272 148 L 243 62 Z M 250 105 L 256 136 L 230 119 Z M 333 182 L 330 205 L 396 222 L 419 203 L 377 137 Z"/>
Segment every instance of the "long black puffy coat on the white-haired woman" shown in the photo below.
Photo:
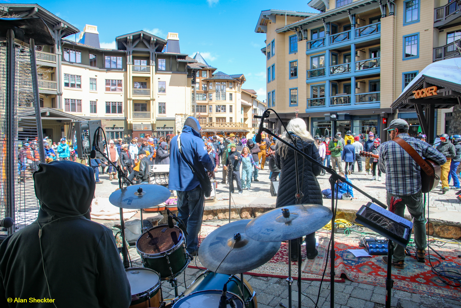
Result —
<path fill-rule="evenodd" d="M 313 142 L 301 141 L 296 139 L 299 149 L 304 149 L 304 153 L 321 163 L 322 158 L 319 156 L 319 150 Z M 295 151 L 288 149 L 288 155 L 282 157 L 279 155 L 279 149 L 275 153 L 275 164 L 281 170 L 280 182 L 278 184 L 278 194 L 276 207 L 296 204 L 296 167 L 295 167 Z M 303 169 L 304 164 L 304 169 Z M 303 159 L 298 154 L 298 170 L 302 174 L 299 175 L 299 183 L 303 197 L 301 204 L 323 204 L 322 191 L 320 190 L 319 182 L 316 176 L 320 175 L 321 168 L 312 165 L 307 159 Z"/>

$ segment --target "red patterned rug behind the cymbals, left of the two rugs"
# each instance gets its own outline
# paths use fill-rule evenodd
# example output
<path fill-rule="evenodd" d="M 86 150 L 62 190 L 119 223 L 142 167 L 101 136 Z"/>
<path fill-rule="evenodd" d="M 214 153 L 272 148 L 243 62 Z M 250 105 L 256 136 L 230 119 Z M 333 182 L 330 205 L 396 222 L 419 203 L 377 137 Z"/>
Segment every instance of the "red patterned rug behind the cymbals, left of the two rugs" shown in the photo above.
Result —
<path fill-rule="evenodd" d="M 199 236 L 199 243 L 214 229 L 217 227 L 202 225 L 201 233 Z M 302 259 L 301 269 L 306 266 L 306 247 L 301 247 L 301 254 L 304 256 Z M 199 268 L 205 270 L 206 268 L 202 266 L 199 258 L 194 258 L 192 262 L 189 263 L 190 268 Z M 288 244 L 282 243 L 282 246 L 278 250 L 277 254 L 269 260 L 263 266 L 260 266 L 250 272 L 244 273 L 246 275 L 254 275 L 261 277 L 275 277 L 275 278 L 287 278 L 288 277 Z M 298 278 L 298 263 L 291 262 L 291 276 L 293 279 Z M 301 271 L 301 280 L 321 280 L 322 276 L 320 274 L 310 274 Z M 330 281 L 329 277 L 325 277 L 324 281 Z M 344 278 L 335 278 L 336 282 L 344 282 Z"/>

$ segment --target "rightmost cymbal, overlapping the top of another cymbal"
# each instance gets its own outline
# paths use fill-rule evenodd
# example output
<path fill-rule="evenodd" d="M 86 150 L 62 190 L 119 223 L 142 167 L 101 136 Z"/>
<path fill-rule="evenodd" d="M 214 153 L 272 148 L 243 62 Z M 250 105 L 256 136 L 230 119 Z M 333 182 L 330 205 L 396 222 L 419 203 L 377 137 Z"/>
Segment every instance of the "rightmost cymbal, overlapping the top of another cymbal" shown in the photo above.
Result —
<path fill-rule="evenodd" d="M 294 240 L 319 230 L 331 220 L 331 217 L 333 213 L 323 205 L 289 205 L 267 211 L 254 218 L 248 223 L 245 233 L 259 242 Z"/>

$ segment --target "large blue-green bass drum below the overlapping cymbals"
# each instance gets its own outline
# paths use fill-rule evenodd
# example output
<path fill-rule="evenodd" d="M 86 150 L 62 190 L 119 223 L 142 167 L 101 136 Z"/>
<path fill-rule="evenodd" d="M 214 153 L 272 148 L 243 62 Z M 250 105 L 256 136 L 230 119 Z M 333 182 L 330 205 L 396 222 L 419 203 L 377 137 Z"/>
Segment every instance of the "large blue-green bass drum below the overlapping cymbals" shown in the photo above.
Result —
<path fill-rule="evenodd" d="M 184 297 L 178 300 L 175 303 L 175 305 L 173 305 L 173 307 L 174 308 L 181 307 L 180 303 L 184 303 L 186 301 L 186 298 L 192 298 L 189 296 L 197 297 L 197 300 L 201 300 L 201 297 L 204 297 L 204 296 L 205 297 L 210 296 L 210 299 L 213 298 L 213 305 L 214 305 L 214 297 L 216 296 L 218 298 L 217 304 L 219 304 L 219 298 L 221 294 L 223 293 L 223 286 L 229 280 L 230 277 L 231 275 L 225 275 L 225 274 L 216 274 L 216 277 L 215 277 L 214 272 L 209 272 L 209 271 L 205 271 L 201 273 L 195 279 L 195 281 L 189 286 L 189 288 L 184 291 Z M 232 276 L 231 281 L 227 283 L 227 292 L 231 294 L 235 294 L 236 296 L 238 296 L 238 298 L 241 298 L 243 302 L 245 302 L 245 304 L 248 304 L 246 306 L 247 308 L 258 308 L 258 302 L 256 301 L 255 293 L 251 285 L 248 284 L 248 281 L 243 279 L 243 288 L 244 288 L 244 290 L 242 290 L 244 293 L 243 295 L 242 295 L 242 292 L 240 291 L 240 287 L 241 287 L 240 277 Z M 218 295 L 216 295 L 214 291 L 217 291 Z M 234 302 L 238 302 L 238 301 L 234 301 Z M 218 307 L 218 305 L 215 305 L 215 306 L 213 305 L 195 306 L 195 307 Z M 184 307 L 188 307 L 188 306 L 184 306 Z M 237 303 L 236 303 L 236 307 L 238 307 Z"/>

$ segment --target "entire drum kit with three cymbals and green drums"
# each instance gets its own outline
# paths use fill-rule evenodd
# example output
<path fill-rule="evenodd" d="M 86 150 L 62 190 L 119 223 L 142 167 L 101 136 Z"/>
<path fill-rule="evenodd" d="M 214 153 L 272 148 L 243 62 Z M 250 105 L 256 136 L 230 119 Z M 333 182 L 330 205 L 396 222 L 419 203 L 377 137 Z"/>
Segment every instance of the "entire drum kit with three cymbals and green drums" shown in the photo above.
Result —
<path fill-rule="evenodd" d="M 155 206 L 168 199 L 170 195 L 165 189 L 154 184 L 133 185 L 112 193 L 109 200 L 121 208 L 145 208 L 146 204 Z M 176 277 L 185 271 L 193 257 L 186 251 L 187 232 L 182 221 L 172 215 L 168 224 L 143 230 L 136 241 L 143 267 L 125 269 L 131 286 L 130 307 L 257 308 L 256 293 L 243 278 L 243 273 L 271 260 L 281 242 L 325 226 L 332 215 L 331 210 L 322 205 L 290 205 L 213 230 L 198 250 L 198 258 L 207 270 L 181 294 L 177 291 Z M 171 218 L 178 224 L 171 223 Z M 289 278 L 290 266 L 291 262 Z M 293 279 L 287 280 L 290 291 Z M 162 297 L 162 282 L 165 281 L 175 287 L 175 298 L 168 303 Z M 289 305 L 291 307 L 291 300 Z"/>

